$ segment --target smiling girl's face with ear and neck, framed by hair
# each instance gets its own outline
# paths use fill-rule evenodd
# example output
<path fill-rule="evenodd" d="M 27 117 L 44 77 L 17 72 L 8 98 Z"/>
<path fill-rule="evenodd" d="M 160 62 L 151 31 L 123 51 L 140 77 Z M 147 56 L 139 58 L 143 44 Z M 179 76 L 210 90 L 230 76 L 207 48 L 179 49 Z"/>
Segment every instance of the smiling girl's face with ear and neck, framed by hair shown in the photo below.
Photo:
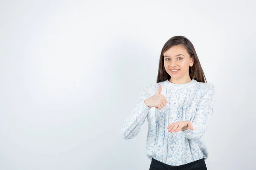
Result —
<path fill-rule="evenodd" d="M 192 67 L 194 60 L 182 45 L 172 46 L 163 53 L 163 57 L 164 68 L 171 79 L 190 79 L 189 66 Z"/>

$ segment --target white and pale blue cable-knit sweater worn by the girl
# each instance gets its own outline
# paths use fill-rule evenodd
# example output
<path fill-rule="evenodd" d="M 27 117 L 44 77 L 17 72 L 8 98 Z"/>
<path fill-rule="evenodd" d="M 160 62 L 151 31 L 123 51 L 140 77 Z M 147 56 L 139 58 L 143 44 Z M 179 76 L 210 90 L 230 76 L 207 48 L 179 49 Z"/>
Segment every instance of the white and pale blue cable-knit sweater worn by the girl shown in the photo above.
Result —
<path fill-rule="evenodd" d="M 161 85 L 167 99 L 166 106 L 158 110 L 145 105 L 144 100 L 153 96 Z M 132 139 L 140 131 L 145 120 L 148 122 L 146 154 L 165 164 L 179 166 L 199 159 L 207 159 L 208 151 L 201 139 L 207 130 L 213 112 L 215 86 L 212 83 L 192 79 L 185 84 L 174 84 L 165 80 L 147 85 L 137 100 L 130 116 L 121 127 L 122 137 Z M 189 120 L 194 130 L 168 132 L 172 122 Z"/>

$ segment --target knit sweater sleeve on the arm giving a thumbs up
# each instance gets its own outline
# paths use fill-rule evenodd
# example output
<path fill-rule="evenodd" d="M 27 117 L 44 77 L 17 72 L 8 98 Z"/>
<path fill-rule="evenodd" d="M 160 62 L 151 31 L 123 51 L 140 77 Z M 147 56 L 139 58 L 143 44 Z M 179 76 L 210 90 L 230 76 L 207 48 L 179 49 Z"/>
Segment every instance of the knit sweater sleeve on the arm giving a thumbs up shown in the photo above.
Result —
<path fill-rule="evenodd" d="M 140 131 L 140 127 L 145 122 L 146 117 L 148 116 L 148 111 L 150 107 L 145 105 L 145 99 L 149 96 L 148 94 L 149 86 L 145 87 L 140 94 L 139 99 L 137 100 L 135 107 L 130 116 L 122 124 L 121 133 L 124 139 L 131 139 L 137 136 Z"/>

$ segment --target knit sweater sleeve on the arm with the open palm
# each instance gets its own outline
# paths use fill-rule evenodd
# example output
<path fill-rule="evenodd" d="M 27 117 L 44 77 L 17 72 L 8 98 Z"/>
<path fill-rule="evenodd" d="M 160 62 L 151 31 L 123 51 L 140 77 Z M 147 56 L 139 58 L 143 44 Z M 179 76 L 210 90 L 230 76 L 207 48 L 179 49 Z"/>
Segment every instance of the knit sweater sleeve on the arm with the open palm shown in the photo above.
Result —
<path fill-rule="evenodd" d="M 193 130 L 180 130 L 188 139 L 198 139 L 203 136 L 203 133 L 207 130 L 207 125 L 210 119 L 210 114 L 213 111 L 213 100 L 215 96 L 215 86 L 212 83 L 208 83 L 209 86 L 202 95 L 198 102 L 195 117 L 192 120 Z"/>

